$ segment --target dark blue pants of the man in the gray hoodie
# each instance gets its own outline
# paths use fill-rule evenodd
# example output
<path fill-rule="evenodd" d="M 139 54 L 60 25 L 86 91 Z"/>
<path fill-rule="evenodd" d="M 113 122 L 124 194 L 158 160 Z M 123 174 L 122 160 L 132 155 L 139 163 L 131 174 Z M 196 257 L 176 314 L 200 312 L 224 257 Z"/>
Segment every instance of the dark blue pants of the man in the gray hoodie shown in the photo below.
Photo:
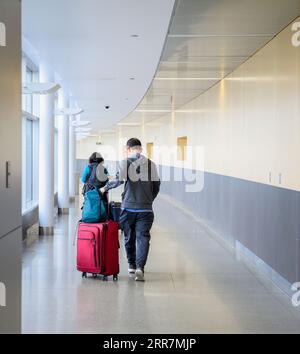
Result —
<path fill-rule="evenodd" d="M 121 228 L 124 231 L 125 249 L 128 264 L 144 268 L 150 247 L 150 230 L 153 224 L 153 212 L 130 212 L 122 210 Z"/>

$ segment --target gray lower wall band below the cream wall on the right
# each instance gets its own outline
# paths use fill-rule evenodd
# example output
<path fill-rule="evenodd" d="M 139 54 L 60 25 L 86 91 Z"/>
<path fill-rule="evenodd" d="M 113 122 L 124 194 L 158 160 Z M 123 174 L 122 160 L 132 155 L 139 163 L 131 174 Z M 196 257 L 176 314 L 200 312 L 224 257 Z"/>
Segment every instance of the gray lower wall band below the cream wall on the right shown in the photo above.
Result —
<path fill-rule="evenodd" d="M 172 178 L 162 182 L 163 193 L 231 244 L 239 241 L 290 283 L 300 280 L 299 192 L 213 173 L 205 173 L 201 192 L 185 187 Z"/>

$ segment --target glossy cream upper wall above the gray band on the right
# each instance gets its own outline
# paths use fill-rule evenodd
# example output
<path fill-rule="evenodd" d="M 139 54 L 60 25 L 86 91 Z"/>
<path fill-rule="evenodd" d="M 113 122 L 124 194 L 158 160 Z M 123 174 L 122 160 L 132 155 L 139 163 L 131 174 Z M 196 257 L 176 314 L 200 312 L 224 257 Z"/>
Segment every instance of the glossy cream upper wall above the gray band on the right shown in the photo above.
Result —
<path fill-rule="evenodd" d="M 102 141 L 116 146 L 120 137 L 136 136 L 144 144 L 174 146 L 186 135 L 193 148 L 204 148 L 208 172 L 300 190 L 300 47 L 292 45 L 292 33 L 289 25 L 231 75 L 181 107 L 184 112 L 150 124 L 141 116 L 140 126 L 114 127 L 117 134 L 103 135 Z M 95 148 L 92 141 L 84 144 L 81 157 Z"/>

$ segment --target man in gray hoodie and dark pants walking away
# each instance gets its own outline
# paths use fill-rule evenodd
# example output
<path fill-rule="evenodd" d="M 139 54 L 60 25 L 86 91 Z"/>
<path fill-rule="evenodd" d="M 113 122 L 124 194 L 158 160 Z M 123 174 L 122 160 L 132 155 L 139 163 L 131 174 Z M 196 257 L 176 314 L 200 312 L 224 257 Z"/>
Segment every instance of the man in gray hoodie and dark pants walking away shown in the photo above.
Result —
<path fill-rule="evenodd" d="M 142 155 L 140 140 L 129 139 L 126 147 L 127 158 L 119 163 L 116 178 L 101 188 L 101 192 L 125 182 L 120 225 L 125 236 L 128 272 L 135 274 L 136 281 L 144 281 L 154 220 L 152 204 L 159 193 L 160 179 L 154 162 Z"/>

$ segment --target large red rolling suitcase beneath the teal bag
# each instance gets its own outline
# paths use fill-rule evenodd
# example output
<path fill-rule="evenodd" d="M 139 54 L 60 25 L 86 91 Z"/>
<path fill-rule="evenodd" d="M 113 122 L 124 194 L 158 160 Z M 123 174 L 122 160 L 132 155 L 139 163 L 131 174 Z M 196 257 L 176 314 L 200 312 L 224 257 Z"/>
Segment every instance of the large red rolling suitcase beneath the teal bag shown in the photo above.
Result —
<path fill-rule="evenodd" d="M 77 232 L 77 270 L 82 277 L 91 273 L 94 277 L 103 275 L 113 280 L 119 274 L 119 225 L 115 221 L 101 224 L 79 223 Z"/>

